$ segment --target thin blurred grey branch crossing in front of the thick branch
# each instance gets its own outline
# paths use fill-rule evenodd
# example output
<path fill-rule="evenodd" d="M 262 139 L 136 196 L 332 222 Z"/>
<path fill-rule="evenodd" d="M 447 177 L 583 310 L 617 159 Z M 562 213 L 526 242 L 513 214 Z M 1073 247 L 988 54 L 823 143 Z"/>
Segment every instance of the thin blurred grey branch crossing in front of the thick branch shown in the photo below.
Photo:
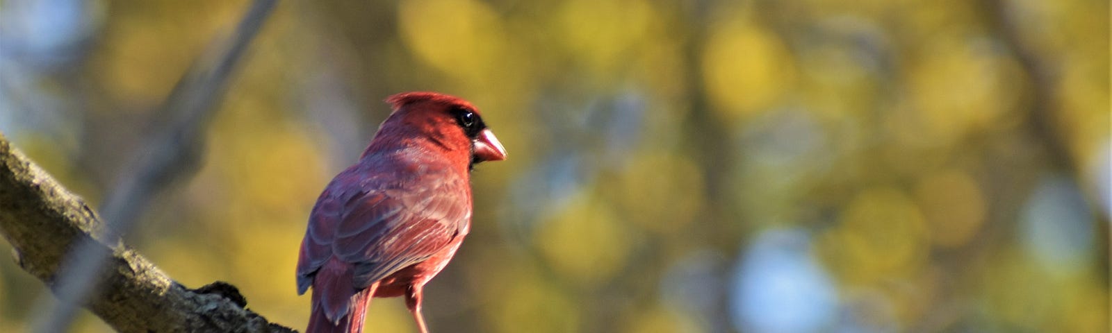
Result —
<path fill-rule="evenodd" d="M 216 105 L 247 46 L 277 2 L 255 0 L 231 38 L 214 43 L 175 87 L 162 105 L 169 121 L 153 132 L 136 159 L 125 167 L 126 174 L 101 208 L 107 222 L 99 231 L 103 240 L 116 242 L 157 194 L 197 170 L 205 147 L 205 129 L 216 113 Z M 62 332 L 69 326 L 78 304 L 97 284 L 92 276 L 108 255 L 96 242 L 79 242 L 72 248 L 54 281 L 54 295 L 60 302 L 53 306 L 43 302 L 46 297 L 37 302 L 40 315 L 34 320 L 36 332 Z"/>

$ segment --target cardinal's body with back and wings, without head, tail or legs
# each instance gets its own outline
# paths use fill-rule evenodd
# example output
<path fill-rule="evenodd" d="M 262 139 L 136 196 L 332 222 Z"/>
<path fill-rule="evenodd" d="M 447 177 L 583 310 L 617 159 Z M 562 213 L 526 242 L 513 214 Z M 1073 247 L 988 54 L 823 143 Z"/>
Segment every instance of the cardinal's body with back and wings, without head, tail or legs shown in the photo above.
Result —
<path fill-rule="evenodd" d="M 423 157 L 404 150 L 365 155 L 368 161 L 336 175 L 317 199 L 301 242 L 298 292 L 312 285 L 315 299 L 325 294 L 320 304 L 330 319 L 344 316 L 350 296 L 377 281 L 400 286 L 431 279 L 467 233 L 468 174 Z M 417 265 L 434 256 L 443 262 Z M 379 296 L 397 295 L 391 290 Z"/>

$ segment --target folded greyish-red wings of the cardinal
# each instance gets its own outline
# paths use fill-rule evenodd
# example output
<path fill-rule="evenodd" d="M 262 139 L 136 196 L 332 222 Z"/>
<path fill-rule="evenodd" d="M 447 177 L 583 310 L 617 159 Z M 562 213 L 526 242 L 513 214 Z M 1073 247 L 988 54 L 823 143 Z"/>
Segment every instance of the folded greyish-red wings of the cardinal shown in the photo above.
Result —
<path fill-rule="evenodd" d="M 470 219 L 465 178 L 424 173 L 400 185 L 360 185 L 370 190 L 345 195 L 329 193 L 338 192 L 330 185 L 318 199 L 301 243 L 298 292 L 331 256 L 351 264 L 353 286 L 366 287 L 439 252 Z"/>

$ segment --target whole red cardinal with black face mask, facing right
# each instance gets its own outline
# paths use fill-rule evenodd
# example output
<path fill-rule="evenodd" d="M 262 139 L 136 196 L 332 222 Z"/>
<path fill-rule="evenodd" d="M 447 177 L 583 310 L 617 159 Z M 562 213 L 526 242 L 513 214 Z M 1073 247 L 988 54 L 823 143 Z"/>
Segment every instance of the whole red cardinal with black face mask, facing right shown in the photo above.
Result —
<path fill-rule="evenodd" d="M 308 333 L 361 332 L 370 299 L 394 296 L 427 333 L 423 289 L 470 229 L 470 170 L 506 159 L 465 100 L 407 92 L 386 101 L 394 112 L 309 214 L 297 262 L 298 294 L 312 286 Z"/>

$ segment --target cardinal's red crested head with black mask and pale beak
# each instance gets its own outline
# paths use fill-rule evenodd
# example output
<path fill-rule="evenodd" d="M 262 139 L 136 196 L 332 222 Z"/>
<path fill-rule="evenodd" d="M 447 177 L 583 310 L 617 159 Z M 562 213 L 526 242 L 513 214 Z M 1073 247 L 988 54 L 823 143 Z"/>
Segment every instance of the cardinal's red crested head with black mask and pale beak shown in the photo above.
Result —
<path fill-rule="evenodd" d="M 469 165 L 506 159 L 506 149 L 487 128 L 479 110 L 464 99 L 436 92 L 405 92 L 386 101 L 394 112 L 383 122 L 375 141 L 386 134 L 391 141 L 428 140 L 468 159 Z"/>

